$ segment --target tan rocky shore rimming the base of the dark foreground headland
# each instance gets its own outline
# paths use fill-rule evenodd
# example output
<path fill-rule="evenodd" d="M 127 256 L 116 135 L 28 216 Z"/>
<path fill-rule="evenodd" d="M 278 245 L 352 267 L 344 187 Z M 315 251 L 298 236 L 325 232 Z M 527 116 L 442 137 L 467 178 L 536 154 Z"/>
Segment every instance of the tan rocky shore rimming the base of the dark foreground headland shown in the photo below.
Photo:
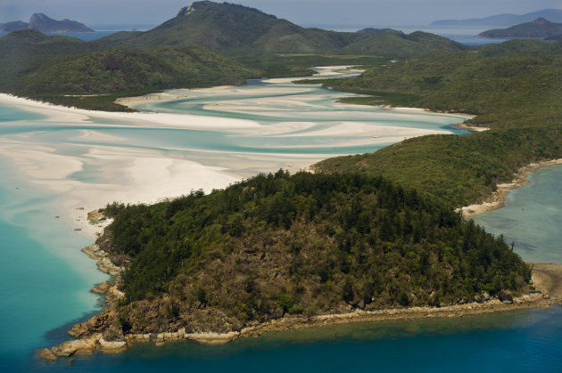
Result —
<path fill-rule="evenodd" d="M 369 311 L 353 309 L 349 305 L 345 311 L 317 315 L 285 314 L 265 322 L 255 321 L 247 325 L 232 324 L 219 310 L 202 307 L 202 310 L 199 310 L 202 313 L 194 315 L 184 325 L 172 325 L 161 316 L 163 322 L 157 324 L 153 332 L 136 333 L 130 326 L 123 324 L 126 318 L 122 317 L 123 311 L 120 307 L 120 300 L 125 296 L 119 289 L 120 274 L 127 267 L 128 259 L 103 250 L 102 247 L 108 247 L 110 239 L 100 236 L 95 244 L 82 249 L 97 262 L 100 271 L 112 275 L 112 280 L 92 288 L 93 293 L 105 296 L 107 308 L 90 320 L 76 324 L 70 329 L 68 333 L 70 337 L 77 339 L 41 349 L 38 352 L 41 359 L 56 361 L 70 356 L 92 355 L 96 351 L 121 353 L 136 343 L 161 346 L 168 341 L 192 340 L 218 345 L 239 337 L 259 336 L 262 333 L 298 328 L 319 328 L 350 322 L 463 317 L 562 304 L 562 264 L 530 264 L 533 265 L 533 285 L 537 290 L 532 290 L 523 296 L 515 297 L 508 291 L 500 291 L 496 296 L 483 292 L 476 294 L 473 299 L 459 299 L 456 304 L 441 304 L 439 307 L 400 307 Z M 169 304 L 165 302 L 166 299 L 163 299 L 161 304 L 139 304 L 139 306 L 143 307 L 142 314 L 147 317 L 154 314 L 162 315 L 165 310 L 170 312 Z M 210 323 L 209 320 L 213 322 Z"/>

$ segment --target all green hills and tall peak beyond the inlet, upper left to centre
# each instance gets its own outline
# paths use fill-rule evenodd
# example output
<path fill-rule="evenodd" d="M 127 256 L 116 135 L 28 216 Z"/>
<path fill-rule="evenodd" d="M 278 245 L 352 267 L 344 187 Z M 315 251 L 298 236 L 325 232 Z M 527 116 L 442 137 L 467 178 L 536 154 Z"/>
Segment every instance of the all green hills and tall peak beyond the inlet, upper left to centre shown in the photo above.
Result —
<path fill-rule="evenodd" d="M 423 32 L 367 35 L 301 28 L 242 5 L 198 2 L 150 31 L 123 31 L 92 42 L 34 30 L 4 36 L 0 92 L 85 109 L 127 110 L 113 101 L 169 88 L 236 85 L 250 77 L 309 76 L 310 66 L 373 65 L 436 49 L 465 46 Z"/>

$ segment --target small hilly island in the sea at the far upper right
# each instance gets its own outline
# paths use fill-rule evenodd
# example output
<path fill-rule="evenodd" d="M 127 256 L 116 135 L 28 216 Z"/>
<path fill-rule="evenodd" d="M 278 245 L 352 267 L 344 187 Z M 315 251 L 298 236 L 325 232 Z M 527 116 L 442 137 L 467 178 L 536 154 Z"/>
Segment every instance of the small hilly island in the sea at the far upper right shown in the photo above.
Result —
<path fill-rule="evenodd" d="M 547 37 L 561 35 L 562 23 L 550 22 L 550 20 L 545 20 L 542 17 L 510 28 L 491 29 L 478 34 L 480 37 L 504 37 L 510 39 L 546 39 Z"/>

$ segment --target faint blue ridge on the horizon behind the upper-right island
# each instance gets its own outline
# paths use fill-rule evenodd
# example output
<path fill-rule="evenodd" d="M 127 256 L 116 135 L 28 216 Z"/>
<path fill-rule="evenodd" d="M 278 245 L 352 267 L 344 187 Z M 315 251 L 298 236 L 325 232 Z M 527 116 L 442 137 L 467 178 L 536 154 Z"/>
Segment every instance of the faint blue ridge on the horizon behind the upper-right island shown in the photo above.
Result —
<path fill-rule="evenodd" d="M 435 20 L 431 26 L 514 26 L 519 23 L 530 22 L 542 17 L 553 22 L 562 22 L 562 10 L 543 9 L 525 14 L 503 13 L 485 18 L 471 18 L 467 20 Z"/>

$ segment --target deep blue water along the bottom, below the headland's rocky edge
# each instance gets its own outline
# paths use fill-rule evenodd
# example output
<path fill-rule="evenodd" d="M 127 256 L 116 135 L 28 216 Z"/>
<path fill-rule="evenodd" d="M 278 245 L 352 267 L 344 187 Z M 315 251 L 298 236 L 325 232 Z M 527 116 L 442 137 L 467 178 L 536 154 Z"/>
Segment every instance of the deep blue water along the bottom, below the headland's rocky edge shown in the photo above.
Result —
<path fill-rule="evenodd" d="M 558 372 L 562 309 L 300 330 L 228 345 L 179 342 L 28 366 L 41 371 Z"/>

